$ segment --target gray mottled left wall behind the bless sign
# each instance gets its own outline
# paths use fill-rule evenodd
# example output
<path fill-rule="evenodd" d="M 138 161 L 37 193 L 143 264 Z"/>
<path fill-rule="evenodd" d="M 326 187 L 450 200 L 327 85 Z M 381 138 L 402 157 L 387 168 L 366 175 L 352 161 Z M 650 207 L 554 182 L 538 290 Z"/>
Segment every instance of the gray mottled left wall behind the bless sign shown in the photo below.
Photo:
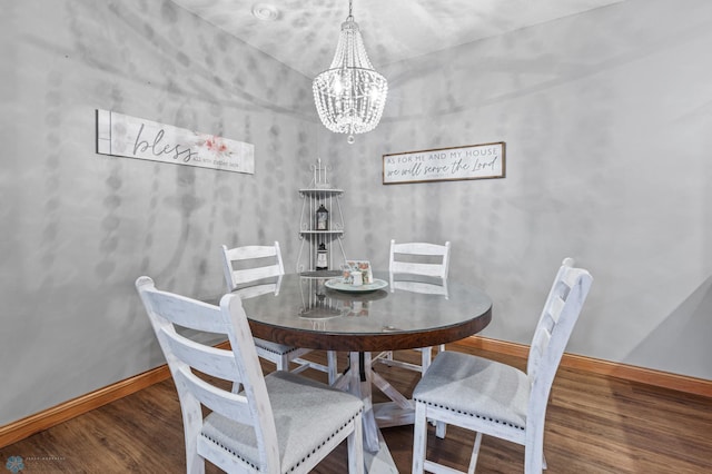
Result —
<path fill-rule="evenodd" d="M 164 363 L 138 276 L 212 297 L 221 244 L 296 259 L 316 125 L 307 78 L 168 1 L 3 2 L 0 31 L 2 425 Z M 256 172 L 96 155 L 97 108 L 251 142 Z"/>

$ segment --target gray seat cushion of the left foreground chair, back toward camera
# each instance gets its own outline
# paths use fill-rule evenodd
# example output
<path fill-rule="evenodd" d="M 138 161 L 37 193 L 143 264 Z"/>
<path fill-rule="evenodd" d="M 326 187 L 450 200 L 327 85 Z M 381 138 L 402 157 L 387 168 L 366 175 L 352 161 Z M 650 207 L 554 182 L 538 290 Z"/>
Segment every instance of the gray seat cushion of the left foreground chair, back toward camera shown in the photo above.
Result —
<path fill-rule="evenodd" d="M 288 372 L 265 377 L 277 427 L 283 472 L 308 458 L 333 434 L 342 431 L 364 404 L 357 397 Z M 217 413 L 209 414 L 201 436 L 257 466 L 255 431 Z"/>

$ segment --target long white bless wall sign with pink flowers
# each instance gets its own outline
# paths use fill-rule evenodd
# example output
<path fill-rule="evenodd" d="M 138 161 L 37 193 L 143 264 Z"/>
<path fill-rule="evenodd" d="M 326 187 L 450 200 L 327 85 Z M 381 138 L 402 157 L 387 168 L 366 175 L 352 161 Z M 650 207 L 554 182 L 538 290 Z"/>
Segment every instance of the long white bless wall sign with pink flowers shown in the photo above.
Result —
<path fill-rule="evenodd" d="M 97 152 L 255 174 L 255 146 L 109 110 L 97 110 Z"/>

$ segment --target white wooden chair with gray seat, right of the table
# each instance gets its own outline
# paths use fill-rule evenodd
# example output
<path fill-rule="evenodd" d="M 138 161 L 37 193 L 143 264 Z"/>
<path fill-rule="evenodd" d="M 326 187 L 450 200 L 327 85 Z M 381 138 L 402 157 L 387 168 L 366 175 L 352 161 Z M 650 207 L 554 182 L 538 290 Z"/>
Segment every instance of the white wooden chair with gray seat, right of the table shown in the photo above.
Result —
<path fill-rule="evenodd" d="M 593 278 L 567 258 L 556 274 L 530 347 L 526 373 L 452 350 L 438 354 L 413 391 L 413 473 L 455 473 L 426 458 L 428 421 L 476 432 L 467 473 L 475 472 L 482 435 L 524 445 L 524 471 L 541 473 L 548 394 Z"/>

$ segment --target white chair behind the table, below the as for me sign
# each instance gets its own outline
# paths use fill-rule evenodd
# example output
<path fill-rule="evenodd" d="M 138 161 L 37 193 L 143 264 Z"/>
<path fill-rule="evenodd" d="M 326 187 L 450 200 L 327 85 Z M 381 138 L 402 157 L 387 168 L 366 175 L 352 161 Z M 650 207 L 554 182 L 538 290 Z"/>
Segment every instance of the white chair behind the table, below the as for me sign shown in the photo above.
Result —
<path fill-rule="evenodd" d="M 441 282 L 444 292 L 447 292 L 447 274 L 449 271 L 449 241 L 445 245 L 429 243 L 400 243 L 390 240 L 390 256 L 388 259 L 388 271 L 390 274 L 392 289 L 397 289 L 395 278 L 397 275 L 422 276 L 436 278 Z M 413 284 L 402 284 L 416 287 Z M 422 285 L 423 286 L 423 285 Z M 392 350 L 385 350 L 374 357 L 374 362 L 379 362 L 389 366 L 398 366 L 424 374 L 431 365 L 433 358 L 432 347 L 417 348 L 421 353 L 421 364 L 397 361 L 393 357 Z M 445 344 L 441 344 L 439 352 L 445 350 Z"/>

